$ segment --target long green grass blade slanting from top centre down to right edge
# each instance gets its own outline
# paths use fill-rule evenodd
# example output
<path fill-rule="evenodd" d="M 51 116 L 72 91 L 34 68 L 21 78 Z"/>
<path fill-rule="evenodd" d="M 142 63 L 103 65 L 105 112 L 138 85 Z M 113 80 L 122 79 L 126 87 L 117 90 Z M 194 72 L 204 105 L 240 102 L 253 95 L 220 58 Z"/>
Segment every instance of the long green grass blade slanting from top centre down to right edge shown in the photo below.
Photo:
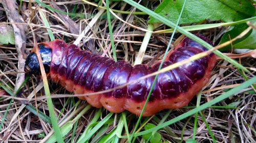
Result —
<path fill-rule="evenodd" d="M 124 2 L 126 2 L 126 3 L 128 3 L 128 4 L 132 5 L 132 6 L 136 7 L 137 9 L 147 13 L 148 15 L 156 18 L 157 20 L 161 21 L 162 23 L 164 23 L 165 25 L 167 25 L 167 26 L 169 26 L 169 27 L 171 27 L 173 29 L 176 27 L 175 23 L 173 23 L 172 21 L 169 21 L 168 19 L 162 17 L 161 15 L 155 13 L 154 11 L 151 11 L 151 10 L 147 9 L 146 7 L 140 5 L 140 4 L 138 4 L 138 3 L 136 3 L 136 2 L 134 2 L 132 0 L 122 0 L 122 1 L 124 1 Z M 194 34 L 188 32 L 186 30 L 184 30 L 183 28 L 181 28 L 179 26 L 177 27 L 177 31 L 180 32 L 181 34 L 184 34 L 186 37 L 188 37 L 188 38 L 190 38 L 190 39 L 200 43 L 201 45 L 206 47 L 206 49 L 208 49 L 208 50 L 213 48 L 210 44 L 208 44 L 204 40 L 200 39 L 199 37 L 195 36 Z M 228 56 L 224 55 L 220 51 L 216 50 L 216 51 L 214 51 L 214 53 L 217 56 L 221 57 L 223 60 L 226 60 L 229 63 L 233 64 L 234 66 L 236 66 L 236 67 L 246 71 L 247 73 L 250 73 L 250 71 L 248 69 L 246 69 L 244 66 L 239 64 L 237 61 L 229 58 Z"/>

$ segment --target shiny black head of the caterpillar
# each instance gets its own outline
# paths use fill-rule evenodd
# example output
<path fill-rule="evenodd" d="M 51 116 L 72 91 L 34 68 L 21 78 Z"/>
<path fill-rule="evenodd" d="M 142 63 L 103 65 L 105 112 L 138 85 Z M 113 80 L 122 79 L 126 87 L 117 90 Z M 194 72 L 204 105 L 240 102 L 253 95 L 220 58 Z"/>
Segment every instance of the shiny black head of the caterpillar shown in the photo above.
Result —
<path fill-rule="evenodd" d="M 52 49 L 47 47 L 44 43 L 38 44 L 39 53 L 41 55 L 42 64 L 45 67 L 46 73 L 50 71 L 50 65 L 52 61 Z M 34 52 L 30 53 L 25 62 L 25 72 L 29 75 L 39 75 L 40 68 L 37 56 Z"/>

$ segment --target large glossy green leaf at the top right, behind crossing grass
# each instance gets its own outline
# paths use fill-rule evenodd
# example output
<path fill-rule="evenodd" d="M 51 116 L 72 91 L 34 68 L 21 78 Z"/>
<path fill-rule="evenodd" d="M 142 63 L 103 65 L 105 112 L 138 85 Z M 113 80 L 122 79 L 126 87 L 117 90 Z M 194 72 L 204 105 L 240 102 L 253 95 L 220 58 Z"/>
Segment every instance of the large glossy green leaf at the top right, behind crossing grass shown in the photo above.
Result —
<path fill-rule="evenodd" d="M 184 0 L 165 0 L 155 10 L 156 13 L 176 23 Z M 255 9 L 250 1 L 244 0 L 190 0 L 187 1 L 179 24 L 198 23 L 205 19 L 212 21 L 236 21 L 254 15 Z M 150 16 L 148 23 L 159 20 Z"/>

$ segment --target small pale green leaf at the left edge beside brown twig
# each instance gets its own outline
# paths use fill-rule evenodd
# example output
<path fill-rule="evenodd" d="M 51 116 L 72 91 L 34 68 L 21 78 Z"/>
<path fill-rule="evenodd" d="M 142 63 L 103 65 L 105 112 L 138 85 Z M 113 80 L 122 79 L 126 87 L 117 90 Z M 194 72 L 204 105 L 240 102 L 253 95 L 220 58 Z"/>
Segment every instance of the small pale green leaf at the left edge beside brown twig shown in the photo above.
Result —
<path fill-rule="evenodd" d="M 14 31 L 9 25 L 0 25 L 0 43 L 15 44 Z"/>

